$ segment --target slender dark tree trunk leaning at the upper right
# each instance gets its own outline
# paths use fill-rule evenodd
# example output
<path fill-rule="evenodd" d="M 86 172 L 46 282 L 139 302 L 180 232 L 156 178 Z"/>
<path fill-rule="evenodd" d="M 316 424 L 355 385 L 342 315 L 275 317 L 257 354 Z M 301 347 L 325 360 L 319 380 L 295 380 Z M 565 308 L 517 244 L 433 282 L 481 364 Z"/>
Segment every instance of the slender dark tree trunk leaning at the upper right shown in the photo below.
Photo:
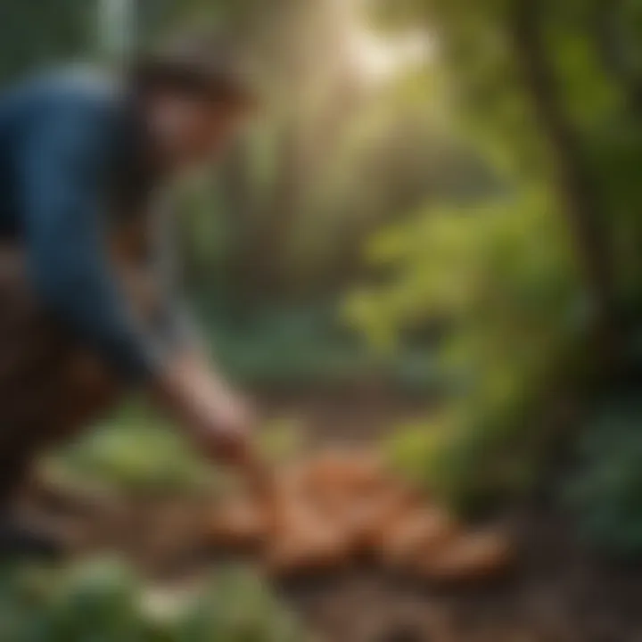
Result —
<path fill-rule="evenodd" d="M 514 38 L 514 53 L 552 152 L 556 188 L 575 239 L 585 285 L 595 306 L 596 347 L 605 361 L 613 362 L 619 353 L 621 337 L 612 249 L 600 194 L 583 157 L 579 137 L 564 112 L 555 72 L 547 62 L 539 0 L 514 0 L 513 6 L 509 28 Z"/>

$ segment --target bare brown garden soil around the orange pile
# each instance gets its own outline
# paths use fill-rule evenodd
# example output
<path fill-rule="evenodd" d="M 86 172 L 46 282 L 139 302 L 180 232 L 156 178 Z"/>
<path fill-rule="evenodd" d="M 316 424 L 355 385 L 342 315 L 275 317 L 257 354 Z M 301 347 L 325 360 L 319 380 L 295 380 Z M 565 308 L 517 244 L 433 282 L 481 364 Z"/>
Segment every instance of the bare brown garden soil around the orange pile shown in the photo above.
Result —
<path fill-rule="evenodd" d="M 275 414 L 299 416 L 310 441 L 367 442 L 423 413 L 417 402 L 372 396 L 270 399 Z M 52 521 L 50 504 L 33 514 Z M 158 580 L 216 568 L 204 545 L 206 498 L 121 498 L 75 517 L 78 553 L 117 549 Z M 564 517 L 525 511 L 514 520 L 520 564 L 493 583 L 457 589 L 420 585 L 367 562 L 339 575 L 276 585 L 319 642 L 641 642 L 642 569 L 601 560 Z"/>

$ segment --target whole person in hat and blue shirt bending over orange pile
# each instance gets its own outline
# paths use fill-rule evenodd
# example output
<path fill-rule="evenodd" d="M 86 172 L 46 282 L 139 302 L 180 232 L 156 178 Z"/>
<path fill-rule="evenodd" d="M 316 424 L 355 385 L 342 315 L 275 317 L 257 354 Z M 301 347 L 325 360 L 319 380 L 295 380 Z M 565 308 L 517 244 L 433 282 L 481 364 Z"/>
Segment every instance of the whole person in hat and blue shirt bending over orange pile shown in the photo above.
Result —
<path fill-rule="evenodd" d="M 202 39 L 121 78 L 62 71 L 0 98 L 0 552 L 53 551 L 12 519 L 12 495 L 123 391 L 143 390 L 206 455 L 255 465 L 251 413 L 172 290 L 160 206 L 251 107 L 229 50 Z"/>

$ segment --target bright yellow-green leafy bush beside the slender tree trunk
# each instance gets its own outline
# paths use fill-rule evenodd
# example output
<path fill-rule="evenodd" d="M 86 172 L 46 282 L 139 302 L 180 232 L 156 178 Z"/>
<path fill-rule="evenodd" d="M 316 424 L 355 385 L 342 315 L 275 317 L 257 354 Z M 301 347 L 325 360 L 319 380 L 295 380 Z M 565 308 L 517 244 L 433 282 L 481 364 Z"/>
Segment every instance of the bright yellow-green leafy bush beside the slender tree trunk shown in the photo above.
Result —
<path fill-rule="evenodd" d="M 428 210 L 374 238 L 371 259 L 392 276 L 347 302 L 349 317 L 388 350 L 422 319 L 443 320 L 446 409 L 391 449 L 457 504 L 533 480 L 542 453 L 529 424 L 575 362 L 588 322 L 564 239 L 554 205 L 538 193 Z"/>

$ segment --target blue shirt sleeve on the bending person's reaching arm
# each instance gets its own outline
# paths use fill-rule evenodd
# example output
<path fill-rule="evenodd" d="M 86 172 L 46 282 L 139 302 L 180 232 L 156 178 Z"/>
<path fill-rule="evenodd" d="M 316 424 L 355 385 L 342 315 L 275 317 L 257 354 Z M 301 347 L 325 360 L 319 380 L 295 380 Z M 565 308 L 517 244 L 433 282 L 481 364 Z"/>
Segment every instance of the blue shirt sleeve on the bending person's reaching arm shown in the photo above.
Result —
<path fill-rule="evenodd" d="M 129 383 L 156 355 L 112 274 L 103 216 L 109 120 L 94 104 L 59 105 L 29 133 L 21 164 L 29 269 L 46 311 Z"/>

